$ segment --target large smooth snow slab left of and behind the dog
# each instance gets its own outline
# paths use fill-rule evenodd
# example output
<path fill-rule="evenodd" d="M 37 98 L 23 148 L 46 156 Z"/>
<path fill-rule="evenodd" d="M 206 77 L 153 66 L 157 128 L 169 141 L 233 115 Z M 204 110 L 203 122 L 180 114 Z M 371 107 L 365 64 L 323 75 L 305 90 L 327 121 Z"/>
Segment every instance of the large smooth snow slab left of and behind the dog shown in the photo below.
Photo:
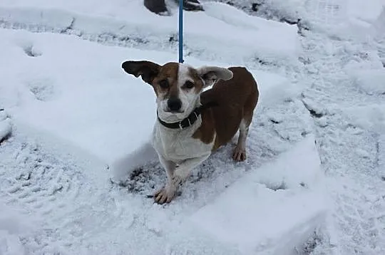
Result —
<path fill-rule="evenodd" d="M 4 79 L 0 99 L 16 126 L 58 137 L 106 164 L 116 162 L 118 169 L 127 170 L 128 162 L 133 162 L 130 153 L 150 137 L 156 119 L 155 95 L 150 85 L 128 76 L 120 64 L 127 59 L 165 63 L 174 56 L 51 33 L 4 30 L 1 38 L 0 53 L 5 58 L 0 60 Z M 186 62 L 207 64 L 194 58 L 186 58 Z M 253 73 L 261 95 L 287 84 L 281 76 Z M 143 160 L 148 158 L 133 164 Z"/>

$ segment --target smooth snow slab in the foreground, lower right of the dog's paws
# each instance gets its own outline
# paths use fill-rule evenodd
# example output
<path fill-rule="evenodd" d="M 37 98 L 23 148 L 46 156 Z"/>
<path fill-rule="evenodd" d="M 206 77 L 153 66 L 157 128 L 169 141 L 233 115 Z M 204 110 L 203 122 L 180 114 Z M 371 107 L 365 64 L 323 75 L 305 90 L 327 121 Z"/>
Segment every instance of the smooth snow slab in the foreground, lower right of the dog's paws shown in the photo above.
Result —
<path fill-rule="evenodd" d="M 319 165 L 309 135 L 277 161 L 232 184 L 193 214 L 190 224 L 243 254 L 292 254 L 326 217 L 326 203 L 317 188 Z M 272 189 L 278 180 L 281 188 Z"/>

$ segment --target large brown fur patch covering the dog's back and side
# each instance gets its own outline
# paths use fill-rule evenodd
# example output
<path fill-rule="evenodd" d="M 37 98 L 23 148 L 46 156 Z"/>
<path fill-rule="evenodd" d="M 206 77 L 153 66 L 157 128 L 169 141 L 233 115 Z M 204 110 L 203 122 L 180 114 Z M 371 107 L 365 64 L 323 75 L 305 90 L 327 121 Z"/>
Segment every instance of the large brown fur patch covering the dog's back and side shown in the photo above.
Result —
<path fill-rule="evenodd" d="M 210 90 L 201 94 L 202 105 L 215 103 L 215 106 L 202 112 L 202 126 L 197 130 L 196 136 L 201 140 L 206 137 L 209 141 L 207 137 L 214 138 L 215 133 L 212 150 L 229 142 L 240 129 L 240 125 L 245 125 L 248 129 L 259 98 L 257 83 L 246 68 L 228 69 L 233 73 L 231 80 L 218 80 Z"/>

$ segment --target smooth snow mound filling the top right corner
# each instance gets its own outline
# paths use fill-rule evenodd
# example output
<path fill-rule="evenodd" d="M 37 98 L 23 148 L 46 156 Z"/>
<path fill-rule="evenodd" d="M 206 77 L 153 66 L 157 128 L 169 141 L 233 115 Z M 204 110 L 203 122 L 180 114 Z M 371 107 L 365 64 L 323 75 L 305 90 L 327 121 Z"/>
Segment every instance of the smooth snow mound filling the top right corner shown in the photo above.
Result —
<path fill-rule="evenodd" d="M 223 1 L 227 2 L 227 1 Z M 244 9 L 260 3 L 257 13 L 270 19 L 284 19 L 305 27 L 338 37 L 366 38 L 381 28 L 384 0 L 373 0 L 370 4 L 360 0 L 233 0 Z M 246 7 L 247 6 L 247 7 Z M 377 25 L 379 24 L 379 25 Z"/>

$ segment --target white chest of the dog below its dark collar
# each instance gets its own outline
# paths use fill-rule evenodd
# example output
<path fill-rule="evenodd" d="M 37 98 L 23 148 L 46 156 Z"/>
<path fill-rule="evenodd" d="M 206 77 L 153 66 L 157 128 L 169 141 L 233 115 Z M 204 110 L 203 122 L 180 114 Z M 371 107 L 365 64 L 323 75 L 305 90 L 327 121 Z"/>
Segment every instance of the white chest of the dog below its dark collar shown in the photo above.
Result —
<path fill-rule="evenodd" d="M 155 124 L 153 132 L 153 146 L 155 150 L 168 160 L 175 162 L 192 157 L 201 157 L 211 152 L 212 143 L 205 144 L 193 138 L 193 134 L 200 123 L 184 130 L 168 130 L 159 123 Z"/>

